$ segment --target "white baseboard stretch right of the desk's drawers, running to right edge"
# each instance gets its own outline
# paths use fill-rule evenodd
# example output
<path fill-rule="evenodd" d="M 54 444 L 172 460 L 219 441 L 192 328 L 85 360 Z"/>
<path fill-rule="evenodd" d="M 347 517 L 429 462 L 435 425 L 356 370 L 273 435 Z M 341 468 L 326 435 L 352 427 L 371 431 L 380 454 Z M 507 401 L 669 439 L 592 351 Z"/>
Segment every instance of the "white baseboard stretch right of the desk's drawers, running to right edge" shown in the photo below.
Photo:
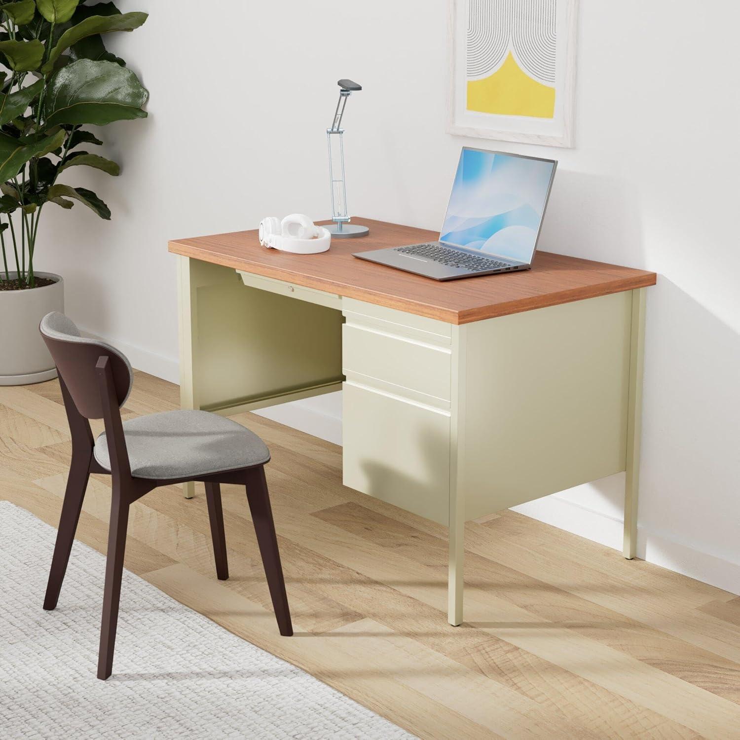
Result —
<path fill-rule="evenodd" d="M 622 521 L 553 494 L 515 506 L 513 511 L 622 551 Z M 637 556 L 675 573 L 740 594 L 740 562 L 676 542 L 665 532 L 638 525 Z"/>

